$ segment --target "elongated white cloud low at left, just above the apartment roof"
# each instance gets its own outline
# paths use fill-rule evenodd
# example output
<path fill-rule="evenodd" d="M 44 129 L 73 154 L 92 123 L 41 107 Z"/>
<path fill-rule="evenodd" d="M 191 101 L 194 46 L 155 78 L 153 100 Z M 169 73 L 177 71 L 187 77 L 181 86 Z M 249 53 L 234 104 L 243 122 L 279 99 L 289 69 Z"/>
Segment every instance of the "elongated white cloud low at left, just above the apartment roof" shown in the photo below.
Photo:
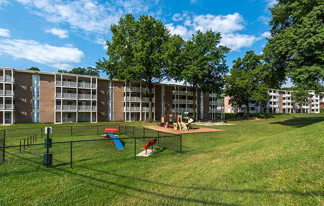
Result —
<path fill-rule="evenodd" d="M 84 56 L 78 48 L 56 47 L 34 40 L 0 40 L 0 51 L 14 58 L 25 58 L 52 67 L 66 68 L 79 63 Z"/>

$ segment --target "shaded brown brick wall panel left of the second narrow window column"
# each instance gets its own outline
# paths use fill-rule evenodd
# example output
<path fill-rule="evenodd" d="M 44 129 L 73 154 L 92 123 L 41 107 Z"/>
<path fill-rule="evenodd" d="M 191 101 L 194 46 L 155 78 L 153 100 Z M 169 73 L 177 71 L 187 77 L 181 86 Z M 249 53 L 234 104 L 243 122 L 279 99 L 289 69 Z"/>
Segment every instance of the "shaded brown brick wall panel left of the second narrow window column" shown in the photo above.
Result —
<path fill-rule="evenodd" d="M 108 81 L 98 79 L 98 121 L 108 120 Z M 115 106 L 115 104 L 114 104 Z"/>

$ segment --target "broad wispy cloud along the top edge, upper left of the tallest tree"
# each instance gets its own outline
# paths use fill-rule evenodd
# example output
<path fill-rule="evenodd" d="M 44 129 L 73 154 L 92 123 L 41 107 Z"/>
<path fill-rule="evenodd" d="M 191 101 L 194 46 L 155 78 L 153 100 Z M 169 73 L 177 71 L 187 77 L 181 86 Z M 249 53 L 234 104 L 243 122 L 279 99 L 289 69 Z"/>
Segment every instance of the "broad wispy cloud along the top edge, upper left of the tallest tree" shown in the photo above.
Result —
<path fill-rule="evenodd" d="M 16 0 L 28 10 L 52 23 L 65 23 L 74 30 L 108 33 L 110 25 L 125 13 L 142 14 L 149 4 L 144 0 Z"/>

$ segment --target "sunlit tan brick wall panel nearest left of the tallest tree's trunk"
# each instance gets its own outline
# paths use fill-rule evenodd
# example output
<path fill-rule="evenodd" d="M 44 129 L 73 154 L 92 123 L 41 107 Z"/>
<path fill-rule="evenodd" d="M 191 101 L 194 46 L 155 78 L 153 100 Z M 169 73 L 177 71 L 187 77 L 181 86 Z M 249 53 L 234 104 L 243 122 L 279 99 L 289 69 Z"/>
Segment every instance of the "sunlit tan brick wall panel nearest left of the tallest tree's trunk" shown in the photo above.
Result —
<path fill-rule="evenodd" d="M 124 82 L 114 82 L 114 121 L 124 120 Z"/>

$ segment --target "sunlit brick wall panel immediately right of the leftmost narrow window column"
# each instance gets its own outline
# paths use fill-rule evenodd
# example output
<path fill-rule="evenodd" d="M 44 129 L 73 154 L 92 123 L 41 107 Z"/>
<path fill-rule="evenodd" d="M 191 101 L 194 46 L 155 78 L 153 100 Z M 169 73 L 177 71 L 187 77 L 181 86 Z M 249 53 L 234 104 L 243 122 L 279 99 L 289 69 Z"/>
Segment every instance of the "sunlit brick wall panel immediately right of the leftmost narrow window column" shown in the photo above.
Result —
<path fill-rule="evenodd" d="M 54 122 L 54 75 L 40 74 L 40 122 Z"/>

